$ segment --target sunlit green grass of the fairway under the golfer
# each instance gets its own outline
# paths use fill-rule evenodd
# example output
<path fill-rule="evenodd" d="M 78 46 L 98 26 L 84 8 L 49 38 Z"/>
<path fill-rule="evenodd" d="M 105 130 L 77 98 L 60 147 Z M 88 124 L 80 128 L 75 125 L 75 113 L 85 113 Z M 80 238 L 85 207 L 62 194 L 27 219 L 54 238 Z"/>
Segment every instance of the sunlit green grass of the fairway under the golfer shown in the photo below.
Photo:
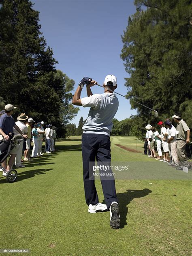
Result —
<path fill-rule="evenodd" d="M 17 182 L 0 176 L 0 248 L 28 248 L 32 255 L 190 255 L 192 173 L 115 146 L 136 149 L 135 139 L 111 137 L 113 161 L 130 166 L 128 176 L 116 179 L 121 229 L 110 228 L 109 212 L 87 212 L 81 138 L 74 136 L 17 169 Z M 102 202 L 99 180 L 96 187 Z"/>

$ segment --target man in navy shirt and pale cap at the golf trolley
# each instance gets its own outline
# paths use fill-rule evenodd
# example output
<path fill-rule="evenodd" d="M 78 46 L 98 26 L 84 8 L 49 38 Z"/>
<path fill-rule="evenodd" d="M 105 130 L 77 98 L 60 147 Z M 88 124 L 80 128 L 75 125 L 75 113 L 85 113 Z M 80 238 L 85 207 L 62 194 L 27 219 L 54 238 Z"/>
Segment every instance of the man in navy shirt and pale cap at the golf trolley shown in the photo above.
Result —
<path fill-rule="evenodd" d="M 5 105 L 5 114 L 3 114 L 0 118 L 0 139 L 2 139 L 2 137 L 4 137 L 5 140 L 9 140 L 9 136 L 8 134 L 13 132 L 13 127 L 15 128 L 15 130 L 17 130 L 24 138 L 28 138 L 27 135 L 22 134 L 21 130 L 19 129 L 19 127 L 17 125 L 15 125 L 15 121 L 13 119 L 13 117 L 11 116 L 14 112 L 14 109 L 16 107 L 14 107 L 11 104 L 7 104 Z M 13 165 L 13 162 L 15 160 L 15 157 L 17 155 L 16 149 L 13 148 L 13 150 L 10 152 L 10 158 L 7 164 L 7 161 L 5 160 L 4 162 L 2 162 L 2 167 L 9 171 L 11 170 L 11 167 Z M 6 176 L 6 172 L 3 172 L 2 174 L 3 176 Z"/>

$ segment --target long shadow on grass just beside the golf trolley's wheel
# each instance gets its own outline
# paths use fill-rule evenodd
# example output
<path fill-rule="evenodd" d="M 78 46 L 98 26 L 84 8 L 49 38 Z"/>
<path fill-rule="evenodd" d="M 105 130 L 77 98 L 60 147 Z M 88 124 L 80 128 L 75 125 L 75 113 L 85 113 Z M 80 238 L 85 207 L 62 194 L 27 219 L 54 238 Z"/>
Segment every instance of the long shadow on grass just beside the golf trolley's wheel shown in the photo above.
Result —
<path fill-rule="evenodd" d="M 18 181 L 23 181 L 25 179 L 30 179 L 36 175 L 40 175 L 40 174 L 46 174 L 46 172 L 49 172 L 51 170 L 54 170 L 53 168 L 50 169 L 37 169 L 37 170 L 28 170 L 25 172 L 20 172 L 17 176 L 17 180 L 15 182 Z M 7 183 L 6 179 L 1 179 L 0 178 L 0 183 Z"/>

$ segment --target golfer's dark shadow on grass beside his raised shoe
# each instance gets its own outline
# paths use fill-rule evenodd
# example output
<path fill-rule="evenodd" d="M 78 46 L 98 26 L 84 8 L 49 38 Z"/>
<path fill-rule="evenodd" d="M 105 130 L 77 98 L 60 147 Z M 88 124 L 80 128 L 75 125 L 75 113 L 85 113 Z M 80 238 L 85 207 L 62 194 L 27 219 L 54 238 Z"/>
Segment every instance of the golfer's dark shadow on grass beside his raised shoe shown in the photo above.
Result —
<path fill-rule="evenodd" d="M 140 198 L 149 195 L 152 191 L 150 189 L 136 190 L 136 189 L 127 189 L 125 193 L 117 194 L 117 198 L 119 200 L 119 208 L 120 208 L 120 217 L 121 217 L 121 226 L 120 228 L 124 228 L 127 225 L 127 213 L 128 207 L 127 205 L 134 199 Z"/>

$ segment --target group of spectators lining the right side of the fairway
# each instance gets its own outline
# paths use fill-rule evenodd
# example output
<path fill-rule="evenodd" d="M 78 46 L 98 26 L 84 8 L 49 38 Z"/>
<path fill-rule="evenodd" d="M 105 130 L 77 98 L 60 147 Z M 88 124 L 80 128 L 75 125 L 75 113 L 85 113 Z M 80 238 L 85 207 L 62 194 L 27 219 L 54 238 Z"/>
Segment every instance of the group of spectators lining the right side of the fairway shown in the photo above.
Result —
<path fill-rule="evenodd" d="M 183 167 L 191 169 L 192 167 L 185 155 L 186 144 L 190 143 L 190 129 L 186 122 L 181 119 L 181 114 L 176 113 L 172 118 L 177 123 L 176 128 L 170 119 L 157 123 L 160 133 L 150 124 L 145 127 L 147 132 L 144 143 L 144 154 L 147 155 L 148 148 L 148 157 L 168 163 L 169 166 L 175 167 L 177 170 L 182 170 Z M 155 152 L 155 143 L 157 145 L 158 156 Z"/>

